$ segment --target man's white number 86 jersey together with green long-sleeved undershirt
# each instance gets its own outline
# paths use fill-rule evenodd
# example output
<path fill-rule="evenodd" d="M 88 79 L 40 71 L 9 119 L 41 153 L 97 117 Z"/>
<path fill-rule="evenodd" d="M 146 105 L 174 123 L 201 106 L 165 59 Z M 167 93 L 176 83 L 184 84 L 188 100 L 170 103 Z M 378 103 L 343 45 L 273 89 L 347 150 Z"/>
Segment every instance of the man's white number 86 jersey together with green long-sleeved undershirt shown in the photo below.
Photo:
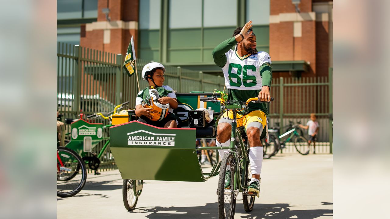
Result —
<path fill-rule="evenodd" d="M 262 86 L 271 88 L 271 57 L 264 51 L 240 57 L 235 49 L 232 50 L 236 44 L 235 37 L 223 41 L 213 50 L 213 58 L 225 76 L 228 100 L 245 102 L 249 98 L 258 97 Z M 248 107 L 250 112 L 261 110 L 268 114 L 265 103 L 250 102 Z"/>

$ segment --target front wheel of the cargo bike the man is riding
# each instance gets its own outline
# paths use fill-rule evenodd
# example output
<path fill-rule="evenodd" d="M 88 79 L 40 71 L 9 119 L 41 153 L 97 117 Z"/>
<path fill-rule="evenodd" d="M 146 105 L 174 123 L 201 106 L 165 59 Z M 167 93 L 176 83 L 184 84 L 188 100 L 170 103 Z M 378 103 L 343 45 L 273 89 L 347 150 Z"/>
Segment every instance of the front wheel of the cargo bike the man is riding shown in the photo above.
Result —
<path fill-rule="evenodd" d="M 231 153 L 225 154 L 221 161 L 220 175 L 218 179 L 218 215 L 220 219 L 234 218 L 236 210 L 236 191 L 233 189 L 235 168 L 233 167 L 234 156 Z M 229 167 L 227 166 L 229 162 Z M 230 187 L 225 189 L 225 173 L 230 170 Z"/>

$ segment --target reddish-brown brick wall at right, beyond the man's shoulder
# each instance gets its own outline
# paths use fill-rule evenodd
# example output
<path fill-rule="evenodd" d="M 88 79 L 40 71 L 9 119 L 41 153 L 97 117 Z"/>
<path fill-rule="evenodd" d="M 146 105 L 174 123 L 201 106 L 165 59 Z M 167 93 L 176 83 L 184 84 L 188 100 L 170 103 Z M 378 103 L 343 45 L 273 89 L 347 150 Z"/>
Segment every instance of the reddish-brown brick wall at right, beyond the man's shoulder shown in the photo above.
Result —
<path fill-rule="evenodd" d="M 312 3 L 319 0 L 301 0 L 301 12 L 312 12 Z M 322 1 L 328 2 L 328 1 Z M 291 0 L 270 0 L 270 14 L 295 13 Z M 294 36 L 294 22 L 285 21 L 269 25 L 269 54 L 273 61 L 305 60 L 310 71 L 302 76 L 327 76 L 329 68 L 328 21 L 301 21 L 302 36 Z M 289 76 L 278 72 L 275 76 Z"/>

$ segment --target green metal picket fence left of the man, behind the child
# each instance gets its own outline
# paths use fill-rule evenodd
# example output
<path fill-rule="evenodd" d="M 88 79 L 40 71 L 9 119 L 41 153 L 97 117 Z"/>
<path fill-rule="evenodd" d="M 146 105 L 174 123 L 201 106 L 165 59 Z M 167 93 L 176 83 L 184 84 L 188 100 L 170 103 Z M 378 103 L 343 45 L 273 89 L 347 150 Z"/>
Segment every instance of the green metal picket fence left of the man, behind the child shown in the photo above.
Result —
<path fill-rule="evenodd" d="M 91 115 L 96 112 L 108 113 L 122 102 L 132 108 L 138 93 L 137 77 L 129 78 L 123 71 L 124 58 L 121 54 L 107 53 L 96 49 L 58 43 L 57 47 L 57 111 L 65 118 L 79 118 L 80 112 Z M 140 89 L 148 86 L 142 80 L 142 68 L 149 63 L 137 60 Z M 177 92 L 193 90 L 222 90 L 224 79 L 220 76 L 205 75 L 202 72 L 184 70 L 181 67 L 165 66 L 165 85 Z M 108 120 L 93 122 L 108 124 Z M 66 125 L 69 133 L 70 125 Z M 108 136 L 105 130 L 104 136 Z M 69 139 L 69 137 L 66 137 Z M 104 141 L 97 145 L 101 150 Z M 110 148 L 101 157 L 101 170 L 115 168 Z"/>

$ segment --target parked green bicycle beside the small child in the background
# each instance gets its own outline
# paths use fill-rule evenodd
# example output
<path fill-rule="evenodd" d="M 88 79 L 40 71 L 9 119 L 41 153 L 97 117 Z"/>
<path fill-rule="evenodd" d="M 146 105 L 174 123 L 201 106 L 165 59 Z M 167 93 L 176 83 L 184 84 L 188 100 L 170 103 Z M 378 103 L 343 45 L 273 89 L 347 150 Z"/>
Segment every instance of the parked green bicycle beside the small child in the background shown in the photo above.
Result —
<path fill-rule="evenodd" d="M 280 127 L 272 127 L 268 130 L 271 135 L 275 133 L 275 140 L 278 145 L 275 154 L 277 154 L 279 150 L 285 148 L 286 143 L 290 141 L 293 141 L 294 147 L 298 151 L 298 153 L 302 155 L 307 155 L 309 153 L 310 147 L 308 140 L 301 135 L 302 130 L 299 128 L 299 124 L 300 122 L 297 122 L 297 125 L 294 125 L 293 121 L 290 120 L 289 125 L 287 125 L 287 131 L 281 135 L 279 134 Z M 285 141 L 281 142 L 282 138 L 284 138 L 285 136 L 288 136 L 288 138 Z"/>

